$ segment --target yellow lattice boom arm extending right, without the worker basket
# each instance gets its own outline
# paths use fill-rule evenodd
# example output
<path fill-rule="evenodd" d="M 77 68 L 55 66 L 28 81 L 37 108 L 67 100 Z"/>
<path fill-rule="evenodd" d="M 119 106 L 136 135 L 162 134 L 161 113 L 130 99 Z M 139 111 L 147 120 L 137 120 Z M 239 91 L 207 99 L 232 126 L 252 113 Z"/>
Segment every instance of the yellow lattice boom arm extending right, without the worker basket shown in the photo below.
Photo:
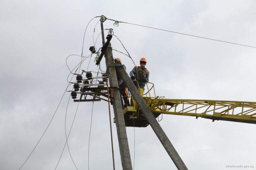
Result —
<path fill-rule="evenodd" d="M 256 102 L 144 99 L 154 113 L 256 124 Z"/>

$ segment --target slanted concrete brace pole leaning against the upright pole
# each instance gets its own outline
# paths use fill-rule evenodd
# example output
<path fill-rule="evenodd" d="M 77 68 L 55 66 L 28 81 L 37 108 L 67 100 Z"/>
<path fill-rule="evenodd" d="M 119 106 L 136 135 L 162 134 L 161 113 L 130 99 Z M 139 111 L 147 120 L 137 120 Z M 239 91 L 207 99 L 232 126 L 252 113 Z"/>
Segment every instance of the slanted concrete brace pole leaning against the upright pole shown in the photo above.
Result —
<path fill-rule="evenodd" d="M 153 113 L 148 109 L 145 101 L 143 100 L 139 91 L 137 90 L 137 88 L 133 84 L 131 78 L 126 73 L 124 67 L 123 66 L 117 66 L 117 72 L 122 77 L 124 83 L 126 84 L 129 91 L 131 92 L 132 96 L 134 97 L 135 101 L 137 102 L 140 110 L 142 111 L 142 113 L 146 117 L 148 123 L 150 124 L 150 126 L 154 130 L 154 132 L 156 133 L 158 139 L 161 141 L 162 145 L 164 146 L 165 150 L 167 151 L 167 153 L 171 157 L 171 159 L 174 162 L 174 164 L 176 165 L 176 167 L 179 170 L 187 170 L 186 165 L 184 164 L 184 162 L 180 158 L 179 154 L 177 153 L 177 151 L 173 147 L 172 143 L 170 142 L 170 140 L 166 136 L 165 132 L 163 131 L 163 129 L 161 128 L 161 126 L 157 122 Z"/>

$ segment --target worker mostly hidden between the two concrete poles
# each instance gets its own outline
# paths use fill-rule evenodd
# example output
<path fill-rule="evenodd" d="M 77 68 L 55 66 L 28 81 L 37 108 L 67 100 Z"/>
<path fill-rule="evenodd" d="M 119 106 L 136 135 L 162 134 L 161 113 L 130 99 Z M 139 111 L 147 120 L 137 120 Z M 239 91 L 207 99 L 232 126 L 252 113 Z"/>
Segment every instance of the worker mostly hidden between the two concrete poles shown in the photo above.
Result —
<path fill-rule="evenodd" d="M 122 61 L 120 58 L 116 58 L 115 62 L 122 64 Z M 129 97 L 127 94 L 127 87 L 126 87 L 125 83 L 123 82 L 123 79 L 121 78 L 121 76 L 118 73 L 116 74 L 116 76 L 117 76 L 119 91 L 120 91 L 121 95 L 123 96 L 124 107 L 130 106 Z"/>

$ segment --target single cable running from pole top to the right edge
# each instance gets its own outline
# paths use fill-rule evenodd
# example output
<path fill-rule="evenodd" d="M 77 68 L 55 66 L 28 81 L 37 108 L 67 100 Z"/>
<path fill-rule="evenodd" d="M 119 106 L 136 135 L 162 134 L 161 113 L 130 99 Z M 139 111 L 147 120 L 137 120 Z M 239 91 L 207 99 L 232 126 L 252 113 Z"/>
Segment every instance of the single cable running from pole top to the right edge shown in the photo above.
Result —
<path fill-rule="evenodd" d="M 106 19 L 108 19 L 108 18 L 106 18 Z M 112 19 L 108 19 L 108 20 L 112 20 Z M 117 21 L 117 20 L 112 20 L 112 21 Z M 192 37 L 207 39 L 207 40 L 213 40 L 213 41 L 218 41 L 218 42 L 226 42 L 226 43 L 231 43 L 231 44 L 236 44 L 236 45 L 242 45 L 242 46 L 247 46 L 247 47 L 256 48 L 255 46 L 244 45 L 244 44 L 239 44 L 239 43 L 234 43 L 234 42 L 221 41 L 221 40 L 210 39 L 210 38 L 205 38 L 205 37 L 200 37 L 200 36 L 194 36 L 194 35 L 190 35 L 190 34 L 184 34 L 184 33 L 179 33 L 179 32 L 174 32 L 174 31 L 169 31 L 169 30 L 163 30 L 163 29 L 154 28 L 154 27 L 148 27 L 148 26 L 143 26 L 143 25 L 139 25 L 139 24 L 132 24 L 132 23 L 127 23 L 127 22 L 122 22 L 122 21 L 118 21 L 118 22 L 119 22 L 119 23 L 125 23 L 125 24 L 136 25 L 136 26 L 140 26 L 140 27 L 151 28 L 151 29 L 155 29 L 155 30 L 161 30 L 161 31 L 176 33 L 176 34 L 182 34 L 182 35 L 186 35 L 186 36 L 192 36 Z"/>

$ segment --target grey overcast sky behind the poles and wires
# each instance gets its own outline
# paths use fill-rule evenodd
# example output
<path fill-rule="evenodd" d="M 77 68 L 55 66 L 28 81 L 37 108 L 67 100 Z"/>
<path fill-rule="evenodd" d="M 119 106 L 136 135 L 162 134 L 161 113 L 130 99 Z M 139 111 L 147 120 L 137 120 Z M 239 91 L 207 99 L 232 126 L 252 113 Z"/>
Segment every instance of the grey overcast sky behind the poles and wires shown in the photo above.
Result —
<path fill-rule="evenodd" d="M 40 139 L 68 85 L 65 60 L 71 54 L 81 55 L 84 31 L 92 18 L 105 15 L 114 20 L 256 46 L 255 9 L 253 0 L 0 0 L 0 170 L 19 169 Z M 87 28 L 83 55 L 90 55 L 89 47 L 100 34 L 98 21 L 99 18 L 93 19 Z M 141 57 L 147 58 L 149 80 L 155 84 L 157 96 L 256 101 L 256 48 L 124 23 L 114 27 L 113 23 L 107 20 L 104 28 L 114 29 L 135 63 L 139 64 Z M 107 35 L 108 31 L 104 33 Z M 101 43 L 100 36 L 96 47 L 100 48 Z M 115 37 L 111 43 L 113 49 L 125 52 Z M 127 72 L 134 67 L 127 56 L 116 51 L 113 54 L 122 59 Z M 93 58 L 90 63 L 86 59 L 81 68 L 86 70 L 89 64 L 88 71 L 98 71 Z M 80 60 L 71 56 L 67 64 L 73 68 Z M 22 169 L 55 169 L 66 141 L 69 95 L 65 93 L 48 130 Z M 77 104 L 69 102 L 67 131 Z M 72 158 L 79 170 L 111 170 L 107 102 L 95 102 L 91 111 L 91 102 L 79 104 L 68 140 Z M 113 109 L 111 116 L 114 117 Z M 212 123 L 202 118 L 163 115 L 160 125 L 188 169 L 239 169 L 226 165 L 256 169 L 253 124 Z M 115 165 L 122 169 L 113 122 L 112 128 Z M 126 130 L 135 169 L 176 169 L 151 127 Z M 67 148 L 57 169 L 76 169 Z"/>

